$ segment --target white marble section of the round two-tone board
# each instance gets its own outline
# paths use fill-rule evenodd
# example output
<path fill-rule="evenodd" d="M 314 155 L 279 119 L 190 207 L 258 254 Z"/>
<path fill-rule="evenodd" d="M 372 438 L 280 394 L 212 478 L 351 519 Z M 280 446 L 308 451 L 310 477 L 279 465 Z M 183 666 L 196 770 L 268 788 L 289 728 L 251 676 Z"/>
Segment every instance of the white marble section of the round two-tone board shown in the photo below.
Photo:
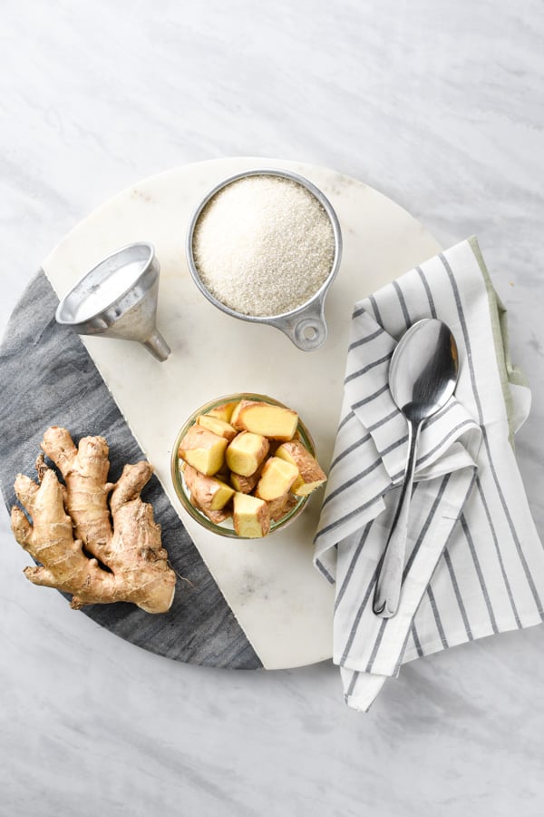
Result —
<path fill-rule="evenodd" d="M 314 182 L 341 224 L 343 260 L 325 306 L 329 337 L 314 352 L 296 349 L 278 330 L 223 314 L 189 276 L 184 243 L 195 207 L 222 179 L 256 167 L 286 168 Z M 304 163 L 228 158 L 161 173 L 121 192 L 65 237 L 44 271 L 62 297 L 104 255 L 142 240 L 154 244 L 160 261 L 158 327 L 170 358 L 160 364 L 129 341 L 92 338 L 85 345 L 265 667 L 324 660 L 332 655 L 333 588 L 311 564 L 321 493 L 292 526 L 267 539 L 214 536 L 185 514 L 174 494 L 172 442 L 185 418 L 209 399 L 255 391 L 299 412 L 326 469 L 353 303 L 440 248 L 409 213 L 362 182 Z"/>

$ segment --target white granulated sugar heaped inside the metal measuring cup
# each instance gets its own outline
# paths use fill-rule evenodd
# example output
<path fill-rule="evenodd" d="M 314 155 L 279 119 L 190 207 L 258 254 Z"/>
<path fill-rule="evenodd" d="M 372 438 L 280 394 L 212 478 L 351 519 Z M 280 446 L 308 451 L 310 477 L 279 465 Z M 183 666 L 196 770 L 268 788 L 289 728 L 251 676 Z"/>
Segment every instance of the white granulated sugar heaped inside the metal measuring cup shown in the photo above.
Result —
<path fill-rule="evenodd" d="M 193 257 L 212 295 L 265 317 L 309 300 L 331 271 L 335 235 L 325 209 L 301 184 L 247 176 L 217 193 L 199 217 Z"/>

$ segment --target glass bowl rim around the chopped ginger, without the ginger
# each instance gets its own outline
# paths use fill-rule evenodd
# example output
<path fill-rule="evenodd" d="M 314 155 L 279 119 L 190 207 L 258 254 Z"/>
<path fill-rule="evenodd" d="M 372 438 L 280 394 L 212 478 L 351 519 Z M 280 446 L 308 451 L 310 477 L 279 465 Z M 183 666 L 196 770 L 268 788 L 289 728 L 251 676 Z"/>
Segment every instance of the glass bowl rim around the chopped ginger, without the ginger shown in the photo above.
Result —
<path fill-rule="evenodd" d="M 206 403 L 204 406 L 200 406 L 197 408 L 196 411 L 190 415 L 187 421 L 183 424 L 182 428 L 180 428 L 180 432 L 177 435 L 173 447 L 172 447 L 172 456 L 170 460 L 170 470 L 171 470 L 171 477 L 172 482 L 174 485 L 174 490 L 176 491 L 176 495 L 179 497 L 181 505 L 185 508 L 187 513 L 190 517 L 195 519 L 199 525 L 205 527 L 207 530 L 211 531 L 212 533 L 218 534 L 219 536 L 229 536 L 234 539 L 243 539 L 244 536 L 238 536 L 235 532 L 232 519 L 226 519 L 225 522 L 221 522 L 220 524 L 216 524 L 212 522 L 209 517 L 207 517 L 202 511 L 199 510 L 198 507 L 195 507 L 190 501 L 190 492 L 189 488 L 186 485 L 185 479 L 183 477 L 183 472 L 180 468 L 180 458 L 178 457 L 178 449 L 180 448 L 180 442 L 185 437 L 189 428 L 193 426 L 196 422 L 196 419 L 199 417 L 200 414 L 207 414 L 211 408 L 218 408 L 222 406 L 224 403 L 234 403 L 238 402 L 239 400 L 257 400 L 260 402 L 271 403 L 274 406 L 281 406 L 282 408 L 289 408 L 285 405 L 285 403 L 281 403 L 279 400 L 268 397 L 264 394 L 255 394 L 253 392 L 239 392 L 238 394 L 228 394 L 224 397 L 220 397 L 214 400 L 210 400 L 209 403 Z M 306 428 L 305 424 L 302 422 L 300 418 L 298 418 L 298 425 L 296 427 L 296 439 L 299 439 L 303 446 L 310 452 L 312 457 L 316 456 L 316 448 L 314 445 L 314 440 L 312 439 L 310 432 Z M 290 508 L 287 511 L 287 514 L 284 517 L 281 517 L 276 522 L 270 520 L 270 531 L 267 536 L 273 534 L 277 530 L 281 530 L 282 528 L 286 527 L 290 522 L 293 522 L 294 519 L 300 516 L 304 508 L 306 507 L 306 502 L 310 498 L 311 495 L 307 495 L 306 497 L 300 497 L 296 502 L 296 505 Z M 264 536 L 263 538 L 267 538 Z"/>

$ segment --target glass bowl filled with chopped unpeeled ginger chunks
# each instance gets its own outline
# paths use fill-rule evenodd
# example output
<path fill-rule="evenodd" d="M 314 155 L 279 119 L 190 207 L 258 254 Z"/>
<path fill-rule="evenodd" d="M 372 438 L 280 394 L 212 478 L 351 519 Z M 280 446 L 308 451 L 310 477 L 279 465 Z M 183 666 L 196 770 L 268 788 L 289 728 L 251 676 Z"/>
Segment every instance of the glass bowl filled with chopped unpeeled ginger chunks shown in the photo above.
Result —
<path fill-rule="evenodd" d="M 242 539 L 286 527 L 326 480 L 296 411 L 251 392 L 210 400 L 191 414 L 174 441 L 171 477 L 190 517 Z"/>

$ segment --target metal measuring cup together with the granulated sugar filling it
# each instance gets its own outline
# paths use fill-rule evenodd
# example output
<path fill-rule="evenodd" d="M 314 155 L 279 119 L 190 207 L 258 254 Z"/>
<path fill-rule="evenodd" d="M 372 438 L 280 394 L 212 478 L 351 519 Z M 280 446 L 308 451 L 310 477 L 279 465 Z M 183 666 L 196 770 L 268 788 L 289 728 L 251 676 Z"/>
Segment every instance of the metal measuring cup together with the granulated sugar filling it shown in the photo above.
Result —
<path fill-rule="evenodd" d="M 228 177 L 194 212 L 186 255 L 193 281 L 219 310 L 274 326 L 304 351 L 325 343 L 325 296 L 342 234 L 312 182 L 271 169 Z"/>

